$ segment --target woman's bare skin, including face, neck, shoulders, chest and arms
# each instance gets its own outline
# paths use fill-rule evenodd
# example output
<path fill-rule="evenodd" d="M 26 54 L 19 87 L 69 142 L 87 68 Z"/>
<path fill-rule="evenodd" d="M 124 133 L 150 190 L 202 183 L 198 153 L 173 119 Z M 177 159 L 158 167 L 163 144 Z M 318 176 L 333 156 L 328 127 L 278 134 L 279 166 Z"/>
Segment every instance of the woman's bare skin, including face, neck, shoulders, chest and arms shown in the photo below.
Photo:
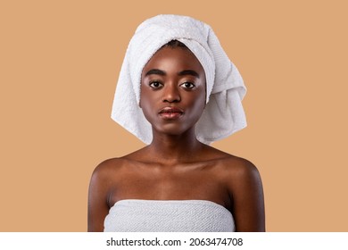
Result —
<path fill-rule="evenodd" d="M 182 47 L 154 54 L 142 73 L 140 100 L 153 141 L 95 168 L 88 231 L 103 231 L 105 216 L 123 199 L 208 200 L 233 214 L 236 231 L 265 230 L 261 177 L 253 163 L 195 137 L 204 106 L 205 74 L 195 55 Z"/>

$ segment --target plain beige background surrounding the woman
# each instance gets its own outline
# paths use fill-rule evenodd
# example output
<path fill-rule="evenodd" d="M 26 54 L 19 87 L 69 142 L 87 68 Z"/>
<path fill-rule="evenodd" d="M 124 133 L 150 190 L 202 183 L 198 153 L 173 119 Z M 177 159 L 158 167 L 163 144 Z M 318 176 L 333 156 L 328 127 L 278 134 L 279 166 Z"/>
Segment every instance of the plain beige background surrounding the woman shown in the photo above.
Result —
<path fill-rule="evenodd" d="M 285 3 L 287 2 L 287 3 Z M 85 231 L 95 166 L 143 146 L 110 119 L 137 25 L 191 15 L 241 71 L 269 231 L 347 231 L 345 1 L 1 1 L 0 231 Z M 122 3 L 122 4 L 119 4 Z"/>

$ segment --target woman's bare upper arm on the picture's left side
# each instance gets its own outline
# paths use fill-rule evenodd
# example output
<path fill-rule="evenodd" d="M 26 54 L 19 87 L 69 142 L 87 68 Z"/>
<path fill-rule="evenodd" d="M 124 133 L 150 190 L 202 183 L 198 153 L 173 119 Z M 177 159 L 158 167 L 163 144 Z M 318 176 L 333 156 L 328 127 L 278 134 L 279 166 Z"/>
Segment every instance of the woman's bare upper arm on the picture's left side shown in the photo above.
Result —
<path fill-rule="evenodd" d="M 104 163 L 95 168 L 88 191 L 88 232 L 104 231 L 104 220 L 109 212 L 107 203 L 108 171 Z"/>

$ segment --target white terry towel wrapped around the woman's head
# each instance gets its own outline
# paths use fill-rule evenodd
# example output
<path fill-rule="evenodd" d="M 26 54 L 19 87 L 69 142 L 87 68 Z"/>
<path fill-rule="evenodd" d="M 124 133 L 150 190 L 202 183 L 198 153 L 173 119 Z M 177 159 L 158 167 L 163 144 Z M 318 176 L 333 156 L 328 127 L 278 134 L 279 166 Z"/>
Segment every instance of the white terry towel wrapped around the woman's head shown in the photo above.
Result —
<path fill-rule="evenodd" d="M 116 87 L 112 120 L 145 144 L 152 142 L 151 124 L 138 105 L 141 73 L 153 54 L 171 40 L 185 44 L 205 71 L 207 104 L 195 127 L 197 139 L 210 144 L 243 129 L 246 121 L 242 99 L 246 88 L 218 37 L 202 21 L 167 14 L 144 21 L 131 38 Z"/>

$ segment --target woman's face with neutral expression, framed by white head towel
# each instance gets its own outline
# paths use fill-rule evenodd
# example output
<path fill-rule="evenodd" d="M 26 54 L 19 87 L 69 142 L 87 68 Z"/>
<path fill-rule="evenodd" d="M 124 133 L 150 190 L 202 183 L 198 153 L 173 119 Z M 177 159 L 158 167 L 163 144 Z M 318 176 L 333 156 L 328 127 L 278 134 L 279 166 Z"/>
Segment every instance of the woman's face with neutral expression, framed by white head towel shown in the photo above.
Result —
<path fill-rule="evenodd" d="M 189 49 L 162 47 L 141 76 L 140 107 L 156 131 L 180 135 L 195 127 L 205 105 L 205 73 Z"/>

